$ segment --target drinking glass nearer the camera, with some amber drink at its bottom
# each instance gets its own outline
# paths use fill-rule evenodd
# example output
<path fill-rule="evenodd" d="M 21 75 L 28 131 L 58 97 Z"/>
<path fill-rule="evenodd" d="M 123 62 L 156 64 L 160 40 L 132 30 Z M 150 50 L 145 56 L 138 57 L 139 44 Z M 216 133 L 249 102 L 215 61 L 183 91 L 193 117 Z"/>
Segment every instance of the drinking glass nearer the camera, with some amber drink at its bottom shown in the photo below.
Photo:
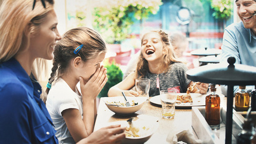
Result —
<path fill-rule="evenodd" d="M 160 99 L 162 103 L 162 117 L 174 118 L 177 92 L 174 90 L 162 90 L 160 91 Z"/>

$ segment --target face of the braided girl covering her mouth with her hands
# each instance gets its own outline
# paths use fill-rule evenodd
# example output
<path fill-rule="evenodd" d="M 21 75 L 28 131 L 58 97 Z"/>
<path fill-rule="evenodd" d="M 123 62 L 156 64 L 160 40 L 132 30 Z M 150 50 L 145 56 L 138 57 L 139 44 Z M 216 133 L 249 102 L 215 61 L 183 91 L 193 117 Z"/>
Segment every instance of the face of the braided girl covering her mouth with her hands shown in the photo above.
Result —
<path fill-rule="evenodd" d="M 101 62 L 104 60 L 105 55 L 106 53 L 100 53 L 94 59 L 89 59 L 86 63 L 83 63 L 80 76 L 83 77 L 84 81 L 90 80 L 95 71 L 101 67 Z"/>

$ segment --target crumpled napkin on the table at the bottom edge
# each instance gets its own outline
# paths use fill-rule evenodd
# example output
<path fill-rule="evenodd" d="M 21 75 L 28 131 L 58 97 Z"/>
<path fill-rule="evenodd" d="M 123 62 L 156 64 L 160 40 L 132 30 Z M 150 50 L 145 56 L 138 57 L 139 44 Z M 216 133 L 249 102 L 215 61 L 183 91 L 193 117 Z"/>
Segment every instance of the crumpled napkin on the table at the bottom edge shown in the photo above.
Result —
<path fill-rule="evenodd" d="M 170 144 L 177 144 L 180 141 L 191 144 L 202 143 L 202 141 L 200 139 L 197 139 L 195 135 L 189 130 L 184 130 L 175 135 L 170 132 L 166 138 L 166 141 L 168 141 Z"/>

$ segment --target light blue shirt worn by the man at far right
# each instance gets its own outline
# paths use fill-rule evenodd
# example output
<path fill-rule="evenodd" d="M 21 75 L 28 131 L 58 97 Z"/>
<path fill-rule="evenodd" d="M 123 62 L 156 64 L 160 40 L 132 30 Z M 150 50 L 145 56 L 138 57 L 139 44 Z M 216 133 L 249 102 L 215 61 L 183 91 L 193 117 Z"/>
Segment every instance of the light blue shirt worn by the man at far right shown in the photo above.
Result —
<path fill-rule="evenodd" d="M 230 56 L 236 58 L 237 64 L 256 66 L 256 37 L 250 28 L 244 27 L 242 21 L 230 24 L 224 31 L 220 62 L 227 63 Z M 234 92 L 238 90 L 234 87 Z M 226 88 L 222 88 L 222 93 L 226 95 Z"/>

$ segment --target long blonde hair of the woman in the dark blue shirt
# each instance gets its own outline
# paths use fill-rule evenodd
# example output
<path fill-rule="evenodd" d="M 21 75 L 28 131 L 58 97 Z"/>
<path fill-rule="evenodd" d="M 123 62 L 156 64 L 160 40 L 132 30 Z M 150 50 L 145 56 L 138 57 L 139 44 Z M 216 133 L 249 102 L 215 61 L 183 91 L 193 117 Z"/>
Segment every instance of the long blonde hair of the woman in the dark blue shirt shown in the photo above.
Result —
<path fill-rule="evenodd" d="M 26 51 L 30 44 L 30 35 L 40 30 L 49 12 L 54 10 L 54 1 L 45 0 L 45 8 L 40 0 L 6 0 L 0 7 L 0 63 L 6 62 L 17 53 Z M 33 9 L 33 10 L 32 10 Z M 45 66 L 44 59 L 34 61 L 31 74 L 35 81 Z M 30 75 L 31 76 L 31 75 Z M 32 79 L 33 80 L 33 79 Z"/>

